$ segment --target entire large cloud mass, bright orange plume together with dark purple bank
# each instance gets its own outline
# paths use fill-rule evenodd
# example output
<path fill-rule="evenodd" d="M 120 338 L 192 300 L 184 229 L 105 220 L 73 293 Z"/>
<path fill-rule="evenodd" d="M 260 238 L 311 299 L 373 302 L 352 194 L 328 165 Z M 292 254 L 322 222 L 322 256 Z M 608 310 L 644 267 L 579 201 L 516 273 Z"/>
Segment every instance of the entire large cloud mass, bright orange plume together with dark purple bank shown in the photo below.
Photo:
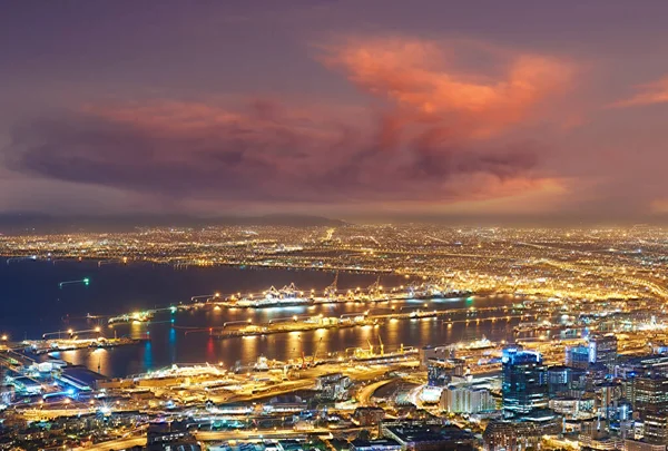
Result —
<path fill-rule="evenodd" d="M 540 108 L 571 87 L 574 66 L 479 45 L 473 50 L 492 63 L 465 70 L 453 46 L 391 38 L 326 47 L 327 67 L 380 99 L 365 115 L 265 98 L 88 105 L 42 138 L 63 149 L 58 160 L 36 147 L 17 166 L 204 203 L 223 196 L 230 205 L 463 214 L 557 205 L 569 183 L 546 175 L 544 149 L 512 133 L 549 120 Z"/>

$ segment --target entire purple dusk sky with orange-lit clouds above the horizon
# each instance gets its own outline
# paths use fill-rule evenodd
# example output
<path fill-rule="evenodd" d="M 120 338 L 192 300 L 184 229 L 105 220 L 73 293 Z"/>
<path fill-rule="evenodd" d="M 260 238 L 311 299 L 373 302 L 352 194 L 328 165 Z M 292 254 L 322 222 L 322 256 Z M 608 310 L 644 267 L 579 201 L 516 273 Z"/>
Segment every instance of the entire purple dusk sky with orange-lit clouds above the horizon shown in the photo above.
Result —
<path fill-rule="evenodd" d="M 666 1 L 14 1 L 0 212 L 660 220 Z"/>

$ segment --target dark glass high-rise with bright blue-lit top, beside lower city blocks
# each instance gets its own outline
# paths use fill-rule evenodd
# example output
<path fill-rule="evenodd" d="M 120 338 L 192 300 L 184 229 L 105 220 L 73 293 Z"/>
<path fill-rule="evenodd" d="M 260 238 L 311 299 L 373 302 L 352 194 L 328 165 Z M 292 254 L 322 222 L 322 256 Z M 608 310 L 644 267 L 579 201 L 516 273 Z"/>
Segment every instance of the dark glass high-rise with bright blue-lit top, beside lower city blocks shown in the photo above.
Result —
<path fill-rule="evenodd" d="M 542 357 L 533 351 L 503 350 L 503 413 L 515 416 L 548 406 L 548 376 Z"/>

